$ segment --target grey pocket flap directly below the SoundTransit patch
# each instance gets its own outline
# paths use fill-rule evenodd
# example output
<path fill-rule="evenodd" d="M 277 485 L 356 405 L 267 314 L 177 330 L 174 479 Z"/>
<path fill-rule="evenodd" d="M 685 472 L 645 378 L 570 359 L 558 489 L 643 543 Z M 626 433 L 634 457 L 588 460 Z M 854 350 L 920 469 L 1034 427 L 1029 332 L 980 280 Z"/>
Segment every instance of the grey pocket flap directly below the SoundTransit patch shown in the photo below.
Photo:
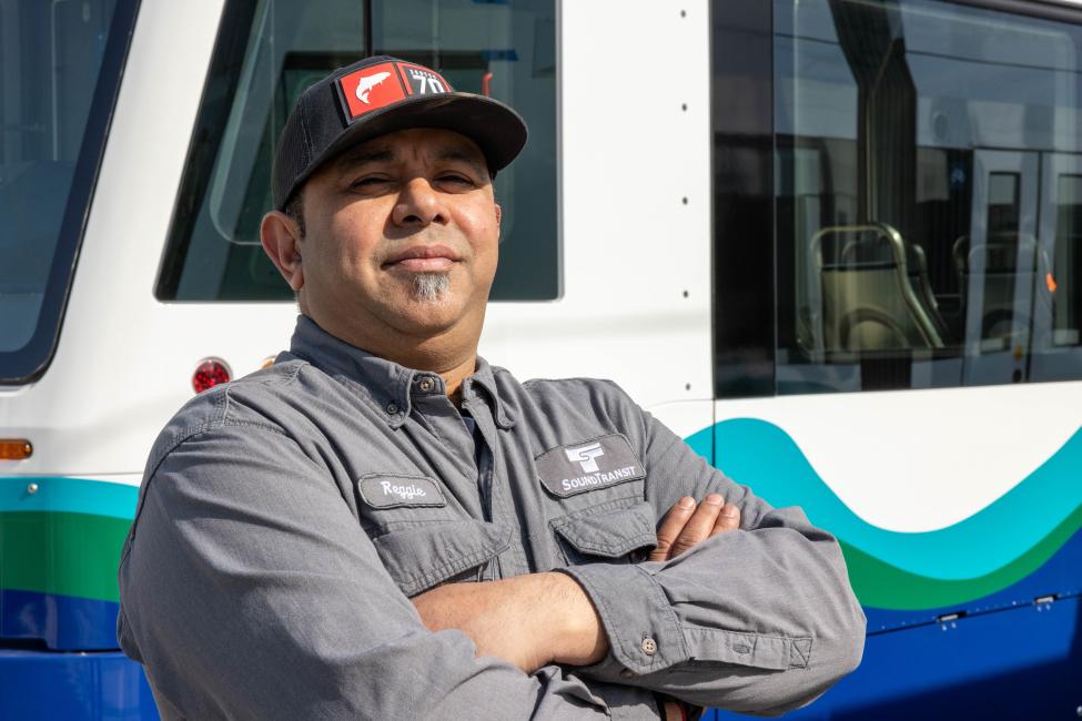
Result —
<path fill-rule="evenodd" d="M 654 524 L 654 507 L 647 502 L 603 511 L 588 509 L 552 521 L 553 530 L 576 550 L 606 558 L 657 548 Z"/>

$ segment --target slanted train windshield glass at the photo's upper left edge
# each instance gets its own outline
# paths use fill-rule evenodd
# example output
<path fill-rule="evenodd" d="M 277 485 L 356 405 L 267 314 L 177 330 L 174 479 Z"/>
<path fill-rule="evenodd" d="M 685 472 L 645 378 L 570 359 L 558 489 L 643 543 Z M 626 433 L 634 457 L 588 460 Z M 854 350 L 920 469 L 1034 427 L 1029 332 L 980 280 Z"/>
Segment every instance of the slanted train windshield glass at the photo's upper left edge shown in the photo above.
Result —
<path fill-rule="evenodd" d="M 136 4 L 0 2 L 0 383 L 55 346 Z"/>

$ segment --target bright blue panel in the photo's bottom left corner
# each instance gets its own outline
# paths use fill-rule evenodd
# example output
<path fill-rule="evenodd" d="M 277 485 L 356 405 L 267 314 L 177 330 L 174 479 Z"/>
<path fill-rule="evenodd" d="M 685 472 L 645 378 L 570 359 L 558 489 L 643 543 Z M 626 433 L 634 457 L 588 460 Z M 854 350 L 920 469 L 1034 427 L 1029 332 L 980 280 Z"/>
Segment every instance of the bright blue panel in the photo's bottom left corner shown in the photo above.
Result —
<path fill-rule="evenodd" d="M 0 650 L 3 721 L 156 721 L 142 667 L 119 651 Z"/>

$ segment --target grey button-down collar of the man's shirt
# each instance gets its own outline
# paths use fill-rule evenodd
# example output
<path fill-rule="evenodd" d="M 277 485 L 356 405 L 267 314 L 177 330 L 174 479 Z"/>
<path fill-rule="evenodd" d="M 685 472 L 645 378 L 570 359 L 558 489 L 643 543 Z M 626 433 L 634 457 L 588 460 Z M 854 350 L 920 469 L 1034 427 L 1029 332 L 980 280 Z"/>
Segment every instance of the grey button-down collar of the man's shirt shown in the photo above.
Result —
<path fill-rule="evenodd" d="M 290 353 L 304 358 L 315 367 L 358 387 L 362 397 L 374 406 L 387 423 L 397 428 L 406 422 L 413 409 L 413 389 L 425 378 L 431 378 L 443 389 L 443 378 L 427 370 L 406 368 L 393 360 L 381 358 L 336 338 L 306 315 L 297 316 L 296 328 L 290 342 Z M 477 393 L 479 387 L 484 393 Z M 493 410 L 500 428 L 515 425 L 506 404 L 499 398 L 492 366 L 477 357 L 474 374 L 463 382 L 463 400 L 468 404 L 481 397 Z"/>

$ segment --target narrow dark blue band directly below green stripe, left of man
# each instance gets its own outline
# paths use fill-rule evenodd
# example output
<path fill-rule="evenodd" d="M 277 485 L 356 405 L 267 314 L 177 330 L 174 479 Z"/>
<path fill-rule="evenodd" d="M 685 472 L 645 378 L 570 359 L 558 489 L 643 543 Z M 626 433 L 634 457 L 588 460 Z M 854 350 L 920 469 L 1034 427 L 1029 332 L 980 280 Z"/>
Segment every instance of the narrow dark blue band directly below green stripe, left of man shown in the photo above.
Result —
<path fill-rule="evenodd" d="M 112 601 L 0 590 L 0 638 L 41 639 L 63 651 L 115 649 L 119 612 Z"/>

